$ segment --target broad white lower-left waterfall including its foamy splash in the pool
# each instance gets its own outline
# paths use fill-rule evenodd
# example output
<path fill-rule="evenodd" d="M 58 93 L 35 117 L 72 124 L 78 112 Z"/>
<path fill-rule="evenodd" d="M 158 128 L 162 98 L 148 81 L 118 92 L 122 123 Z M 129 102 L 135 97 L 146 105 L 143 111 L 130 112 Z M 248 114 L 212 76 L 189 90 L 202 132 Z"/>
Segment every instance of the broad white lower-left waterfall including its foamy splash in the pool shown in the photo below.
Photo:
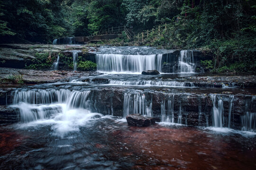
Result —
<path fill-rule="evenodd" d="M 12 107 L 18 108 L 26 126 L 52 125 L 57 136 L 79 131 L 85 122 L 103 115 L 93 113 L 91 91 L 29 90 L 16 91 Z"/>

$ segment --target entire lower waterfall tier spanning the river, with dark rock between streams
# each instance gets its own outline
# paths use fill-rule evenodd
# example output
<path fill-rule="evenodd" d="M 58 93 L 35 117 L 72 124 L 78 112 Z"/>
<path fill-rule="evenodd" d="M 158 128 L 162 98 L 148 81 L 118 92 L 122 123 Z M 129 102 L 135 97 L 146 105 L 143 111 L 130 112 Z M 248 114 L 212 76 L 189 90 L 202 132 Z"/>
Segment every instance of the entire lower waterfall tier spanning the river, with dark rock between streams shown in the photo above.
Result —
<path fill-rule="evenodd" d="M 87 88 L 84 90 L 81 88 L 72 89 L 17 90 L 11 94 L 14 95 L 12 106 L 20 110 L 21 122 L 52 119 L 55 118 L 55 115 L 65 113 L 77 114 L 82 109 L 123 117 L 135 113 L 151 117 L 161 116 L 162 122 L 194 126 L 212 125 L 213 127 L 230 127 L 256 132 L 254 96 L 242 95 L 243 98 L 241 98 L 239 94 L 209 94 L 207 96 L 150 90 L 133 90 L 123 93 L 122 90 L 114 90 L 115 92 L 113 92 L 113 90 L 99 91 L 99 89 L 90 91 Z M 110 97 L 103 97 L 101 93 Z M 120 102 L 120 99 L 123 102 Z M 209 99 L 212 100 L 213 107 L 210 107 Z M 234 103 L 241 99 L 245 100 L 242 104 L 244 115 L 239 111 L 239 116 L 236 113 L 238 106 Z M 191 107 L 191 102 L 194 108 Z M 120 105 L 117 106 L 116 103 Z M 232 109 L 233 107 L 236 109 Z"/>

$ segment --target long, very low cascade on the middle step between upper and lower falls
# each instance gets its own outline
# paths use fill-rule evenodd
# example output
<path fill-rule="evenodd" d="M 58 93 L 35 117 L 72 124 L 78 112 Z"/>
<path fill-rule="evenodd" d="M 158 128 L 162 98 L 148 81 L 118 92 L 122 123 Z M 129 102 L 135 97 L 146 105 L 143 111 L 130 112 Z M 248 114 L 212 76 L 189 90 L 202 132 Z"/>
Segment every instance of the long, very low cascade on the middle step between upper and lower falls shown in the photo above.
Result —
<path fill-rule="evenodd" d="M 194 87 L 193 83 L 177 82 L 177 81 L 155 81 L 155 80 L 142 80 L 142 81 L 120 81 L 110 80 L 111 85 L 159 85 L 171 87 Z"/>

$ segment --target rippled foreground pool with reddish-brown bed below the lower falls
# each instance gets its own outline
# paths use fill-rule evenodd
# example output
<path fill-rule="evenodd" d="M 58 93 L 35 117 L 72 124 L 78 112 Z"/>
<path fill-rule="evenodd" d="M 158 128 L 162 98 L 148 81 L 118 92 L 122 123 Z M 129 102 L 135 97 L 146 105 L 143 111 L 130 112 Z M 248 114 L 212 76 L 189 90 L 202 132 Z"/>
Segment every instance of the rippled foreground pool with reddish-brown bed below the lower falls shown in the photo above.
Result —
<path fill-rule="evenodd" d="M 64 136 L 54 125 L 0 128 L 0 169 L 255 170 L 256 136 L 187 126 L 88 121 Z M 64 127 L 63 127 L 64 128 Z M 239 134 L 239 133 L 242 133 Z"/>

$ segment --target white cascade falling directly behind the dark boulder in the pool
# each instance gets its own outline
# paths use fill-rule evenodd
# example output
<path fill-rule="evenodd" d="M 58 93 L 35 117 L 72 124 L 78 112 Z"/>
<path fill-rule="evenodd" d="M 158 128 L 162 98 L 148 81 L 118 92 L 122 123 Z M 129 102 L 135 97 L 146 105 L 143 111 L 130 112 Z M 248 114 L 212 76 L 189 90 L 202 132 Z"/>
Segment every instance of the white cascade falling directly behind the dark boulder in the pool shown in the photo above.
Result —
<path fill-rule="evenodd" d="M 152 99 L 146 101 L 145 94 L 143 93 L 125 93 L 123 105 L 123 117 L 128 114 L 142 114 L 152 116 Z"/>

